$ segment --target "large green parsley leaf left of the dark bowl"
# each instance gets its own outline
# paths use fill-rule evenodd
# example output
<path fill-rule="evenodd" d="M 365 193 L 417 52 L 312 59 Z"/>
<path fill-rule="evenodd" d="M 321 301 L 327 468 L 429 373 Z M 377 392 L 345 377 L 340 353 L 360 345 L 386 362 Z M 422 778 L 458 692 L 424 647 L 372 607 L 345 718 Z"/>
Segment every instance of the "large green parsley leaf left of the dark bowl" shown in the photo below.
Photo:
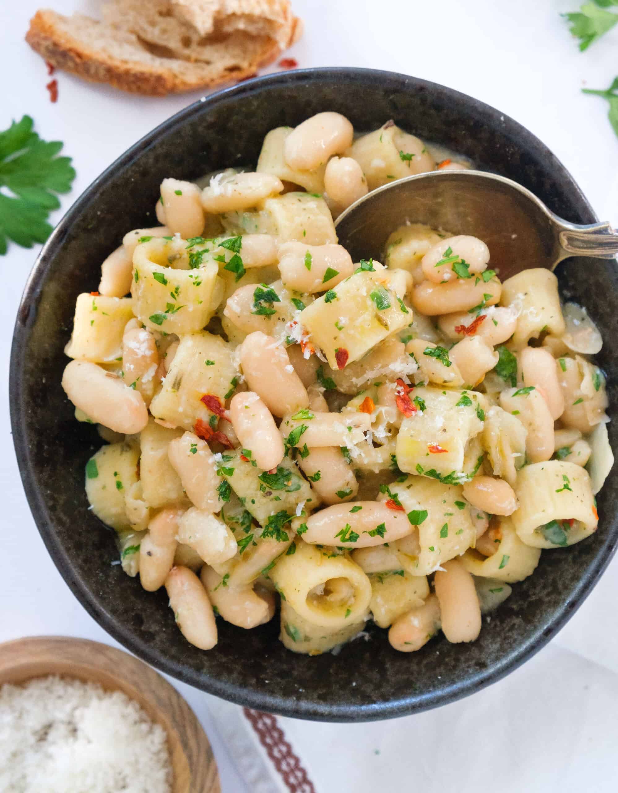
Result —
<path fill-rule="evenodd" d="M 58 157 L 63 144 L 40 140 L 32 132 L 29 116 L 0 132 L 0 255 L 6 254 L 7 238 L 22 247 L 44 243 L 52 233 L 48 216 L 58 209 L 55 193 L 68 193 L 75 171 L 70 157 Z"/>

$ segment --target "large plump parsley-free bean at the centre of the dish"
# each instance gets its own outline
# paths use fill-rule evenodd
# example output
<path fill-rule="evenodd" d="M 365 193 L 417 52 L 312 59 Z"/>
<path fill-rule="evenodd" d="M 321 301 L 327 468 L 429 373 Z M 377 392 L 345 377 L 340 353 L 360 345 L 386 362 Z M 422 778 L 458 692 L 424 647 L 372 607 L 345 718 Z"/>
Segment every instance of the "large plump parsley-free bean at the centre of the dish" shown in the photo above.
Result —
<path fill-rule="evenodd" d="M 240 346 L 240 363 L 247 385 L 274 416 L 308 407 L 307 389 L 277 339 L 250 333 Z"/>

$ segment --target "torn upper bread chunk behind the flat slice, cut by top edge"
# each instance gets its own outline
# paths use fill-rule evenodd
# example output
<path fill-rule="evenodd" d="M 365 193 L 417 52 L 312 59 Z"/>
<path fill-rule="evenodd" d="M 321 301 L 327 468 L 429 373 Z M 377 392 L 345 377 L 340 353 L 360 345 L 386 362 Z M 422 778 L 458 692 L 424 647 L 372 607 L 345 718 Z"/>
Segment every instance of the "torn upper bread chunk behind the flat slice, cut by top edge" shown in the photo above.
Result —
<path fill-rule="evenodd" d="M 289 46 L 292 39 L 294 17 L 288 0 L 210 0 L 208 6 L 216 6 L 219 14 L 200 15 L 200 6 L 205 0 L 185 0 L 185 10 L 191 10 L 200 29 L 209 27 L 201 34 L 193 22 L 186 21 L 172 0 L 109 0 L 103 6 L 103 18 L 109 25 L 134 33 L 153 55 L 168 56 L 193 62 L 218 63 L 221 53 L 239 36 L 253 36 L 259 40 L 272 40 L 281 49 Z M 277 21 L 257 17 L 254 13 L 238 15 L 224 14 L 227 6 L 278 6 L 281 12 Z M 256 7 L 257 6 L 257 7 Z M 264 9 L 268 12 L 268 9 Z M 212 11 L 212 8 L 210 9 Z"/>

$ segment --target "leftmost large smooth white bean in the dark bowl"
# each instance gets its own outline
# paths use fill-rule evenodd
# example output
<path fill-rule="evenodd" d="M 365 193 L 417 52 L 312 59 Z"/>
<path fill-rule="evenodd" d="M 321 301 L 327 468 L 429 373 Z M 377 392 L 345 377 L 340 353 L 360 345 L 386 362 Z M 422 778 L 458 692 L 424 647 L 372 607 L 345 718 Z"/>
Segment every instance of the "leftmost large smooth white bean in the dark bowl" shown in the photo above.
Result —
<path fill-rule="evenodd" d="M 139 391 L 96 363 L 71 361 L 64 370 L 62 385 L 76 408 L 114 432 L 134 435 L 148 423 L 148 410 Z"/>

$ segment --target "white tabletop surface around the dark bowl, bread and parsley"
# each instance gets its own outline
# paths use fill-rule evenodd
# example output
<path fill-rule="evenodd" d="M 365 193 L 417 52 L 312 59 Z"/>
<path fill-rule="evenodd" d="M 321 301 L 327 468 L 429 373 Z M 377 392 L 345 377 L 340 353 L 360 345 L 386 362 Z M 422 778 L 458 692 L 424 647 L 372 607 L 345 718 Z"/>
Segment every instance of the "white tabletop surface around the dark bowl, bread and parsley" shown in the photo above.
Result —
<path fill-rule="evenodd" d="M 95 0 L 51 2 L 65 13 L 97 13 Z M 46 140 L 65 141 L 64 153 L 74 158 L 78 176 L 74 190 L 63 197 L 62 210 L 54 218 L 58 220 L 113 159 L 198 94 L 137 98 L 60 73 L 56 75 L 59 102 L 52 105 L 45 89 L 49 78 L 44 63 L 23 41 L 39 2 L 5 0 L 0 5 L 0 129 L 12 118 L 29 113 Z M 586 98 L 580 88 L 604 88 L 612 81 L 618 71 L 614 57 L 618 31 L 580 54 L 559 17 L 577 5 L 577 0 L 520 0 L 517 4 L 294 0 L 297 13 L 306 21 L 306 33 L 290 54 L 300 67 L 402 71 L 494 105 L 540 136 L 574 174 L 597 214 L 616 223 L 618 140 L 608 124 L 605 102 Z M 36 249 L 12 245 L 9 255 L 0 258 L 0 316 L 7 324 L 0 337 L 0 357 L 5 373 L 14 316 L 36 253 Z M 113 644 L 71 595 L 36 531 L 13 454 L 6 387 L 0 394 L 0 491 L 5 499 L 0 514 L 0 641 L 67 634 Z M 592 596 L 555 639 L 555 644 L 614 672 L 618 672 L 618 638 L 607 627 L 615 621 L 616 571 L 618 561 L 613 561 Z M 246 787 L 219 739 L 203 695 L 176 685 L 208 731 L 224 793 L 242 793 Z M 551 723 L 544 729 L 551 730 Z M 321 793 L 330 791 L 325 788 Z"/>

